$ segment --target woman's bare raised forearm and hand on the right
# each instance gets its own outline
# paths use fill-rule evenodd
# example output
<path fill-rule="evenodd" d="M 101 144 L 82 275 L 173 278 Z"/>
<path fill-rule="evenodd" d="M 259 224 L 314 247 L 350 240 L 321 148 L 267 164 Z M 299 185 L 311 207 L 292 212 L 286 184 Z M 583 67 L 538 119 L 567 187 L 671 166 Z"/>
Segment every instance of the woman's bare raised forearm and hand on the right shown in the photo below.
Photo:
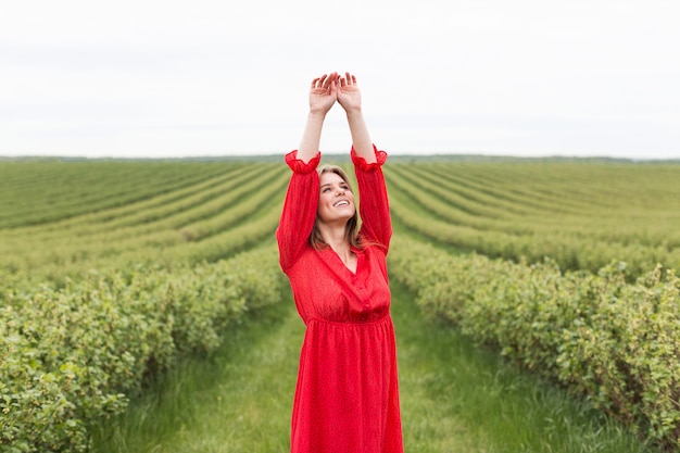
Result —
<path fill-rule="evenodd" d="M 344 73 L 344 77 L 339 77 L 339 81 L 338 102 L 347 113 L 354 151 L 356 155 L 363 158 L 366 163 L 375 163 L 376 154 L 374 152 L 373 141 L 370 141 L 370 136 L 368 135 L 368 128 L 364 122 L 362 95 L 356 85 L 356 77 L 350 73 Z"/>

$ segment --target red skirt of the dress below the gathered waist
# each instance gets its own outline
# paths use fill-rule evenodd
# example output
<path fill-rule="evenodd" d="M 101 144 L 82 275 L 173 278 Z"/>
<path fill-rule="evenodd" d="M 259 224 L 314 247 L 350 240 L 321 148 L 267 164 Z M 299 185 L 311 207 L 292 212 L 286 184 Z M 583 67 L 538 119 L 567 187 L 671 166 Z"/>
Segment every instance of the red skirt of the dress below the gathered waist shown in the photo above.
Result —
<path fill-rule="evenodd" d="M 373 323 L 307 323 L 291 452 L 403 453 L 389 315 Z"/>

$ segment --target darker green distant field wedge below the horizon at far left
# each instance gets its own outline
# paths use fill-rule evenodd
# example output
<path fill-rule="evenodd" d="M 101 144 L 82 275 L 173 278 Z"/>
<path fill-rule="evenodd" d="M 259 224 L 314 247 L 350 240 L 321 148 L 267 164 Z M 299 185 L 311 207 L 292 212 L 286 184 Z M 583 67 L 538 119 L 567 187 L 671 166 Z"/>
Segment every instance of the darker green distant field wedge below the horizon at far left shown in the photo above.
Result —
<path fill-rule="evenodd" d="M 3 161 L 0 228 L 45 224 L 177 190 L 237 163 Z"/>

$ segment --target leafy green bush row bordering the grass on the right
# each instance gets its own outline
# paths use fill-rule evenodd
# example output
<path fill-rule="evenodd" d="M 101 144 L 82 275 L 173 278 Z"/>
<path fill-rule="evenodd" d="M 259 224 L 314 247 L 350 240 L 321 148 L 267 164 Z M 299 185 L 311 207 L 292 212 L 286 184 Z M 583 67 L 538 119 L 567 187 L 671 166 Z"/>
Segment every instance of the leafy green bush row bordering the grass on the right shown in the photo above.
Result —
<path fill-rule="evenodd" d="M 405 239 L 391 273 L 417 302 L 480 343 L 592 400 L 639 436 L 680 451 L 680 278 L 660 267 L 626 280 L 626 265 L 595 274 L 454 256 Z"/>

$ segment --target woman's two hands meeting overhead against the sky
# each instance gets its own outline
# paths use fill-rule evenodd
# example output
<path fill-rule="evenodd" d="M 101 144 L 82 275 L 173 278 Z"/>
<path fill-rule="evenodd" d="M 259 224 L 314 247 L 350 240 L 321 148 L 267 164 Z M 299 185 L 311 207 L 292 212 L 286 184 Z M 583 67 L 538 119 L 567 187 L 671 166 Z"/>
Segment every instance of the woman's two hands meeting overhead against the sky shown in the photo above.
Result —
<path fill-rule="evenodd" d="M 326 114 L 336 101 L 348 113 L 361 110 L 362 97 L 354 75 L 344 73 L 344 77 L 342 77 L 337 72 L 333 72 L 312 80 L 310 89 L 311 112 Z"/>

